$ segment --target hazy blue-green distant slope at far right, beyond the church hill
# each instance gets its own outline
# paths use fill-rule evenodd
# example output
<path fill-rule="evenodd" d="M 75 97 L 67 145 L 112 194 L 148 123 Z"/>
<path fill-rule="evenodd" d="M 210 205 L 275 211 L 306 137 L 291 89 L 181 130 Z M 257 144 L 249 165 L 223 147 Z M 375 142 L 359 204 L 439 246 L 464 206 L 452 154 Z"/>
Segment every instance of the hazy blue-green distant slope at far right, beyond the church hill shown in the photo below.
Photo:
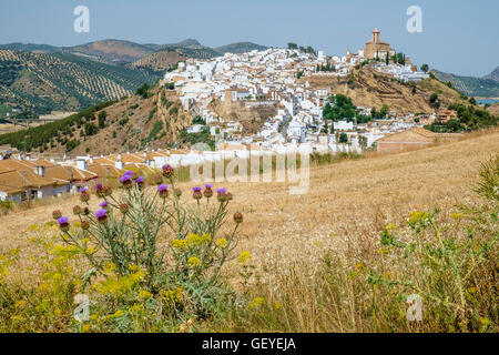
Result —
<path fill-rule="evenodd" d="M 450 81 L 454 88 L 468 97 L 499 98 L 499 82 L 492 79 L 461 77 L 438 70 L 431 70 L 431 72 L 440 81 Z"/>

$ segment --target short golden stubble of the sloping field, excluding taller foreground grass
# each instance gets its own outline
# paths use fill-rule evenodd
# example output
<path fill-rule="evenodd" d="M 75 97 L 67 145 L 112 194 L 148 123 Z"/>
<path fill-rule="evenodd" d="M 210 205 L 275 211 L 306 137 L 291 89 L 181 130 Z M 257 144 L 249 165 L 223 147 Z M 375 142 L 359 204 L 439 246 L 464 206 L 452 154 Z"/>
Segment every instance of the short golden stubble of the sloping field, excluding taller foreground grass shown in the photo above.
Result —
<path fill-rule="evenodd" d="M 339 245 L 352 235 L 374 240 L 386 224 L 413 211 L 449 210 L 473 200 L 470 187 L 480 163 L 497 153 L 499 132 L 492 131 L 415 152 L 312 166 L 304 195 L 291 195 L 287 183 L 215 187 L 233 192 L 233 210 L 244 214 L 240 248 L 249 251 L 256 265 L 286 266 L 297 260 L 313 263 L 317 242 L 329 243 L 332 235 Z M 78 196 L 59 199 L 0 216 L 0 251 L 27 247 L 29 225 L 45 223 L 54 209 L 71 214 L 78 203 Z"/>

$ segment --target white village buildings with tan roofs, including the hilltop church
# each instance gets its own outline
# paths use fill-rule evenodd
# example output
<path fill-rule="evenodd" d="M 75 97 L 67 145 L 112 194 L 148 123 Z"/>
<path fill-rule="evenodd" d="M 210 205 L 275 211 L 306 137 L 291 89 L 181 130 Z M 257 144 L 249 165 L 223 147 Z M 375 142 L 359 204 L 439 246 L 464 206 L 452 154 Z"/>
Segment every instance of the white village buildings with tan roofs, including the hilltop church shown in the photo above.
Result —
<path fill-rule="evenodd" d="M 401 63 L 390 62 L 388 59 L 396 52 L 380 41 L 378 29 L 374 30 L 365 49 L 355 53 L 347 51 L 345 55 L 327 57 L 323 51 L 315 52 L 310 48 L 289 47 L 226 53 L 211 60 L 189 59 L 165 73 L 160 84 L 175 90 L 184 109 L 204 122 L 191 125 L 186 131 L 196 133 L 208 130 L 216 142 L 214 151 L 195 144 L 190 150 L 156 149 L 62 159 L 34 159 L 30 154 L 3 152 L 3 160 L 0 160 L 0 200 L 22 202 L 74 193 L 82 185 L 119 176 L 126 170 L 154 170 L 164 164 L 202 165 L 234 158 L 251 159 L 292 152 L 396 152 L 404 150 L 404 145 L 431 144 L 435 133 L 424 130 L 422 125 L 431 123 L 439 114 L 444 119 L 454 114 L 435 112 L 416 118 L 416 113 L 400 115 L 390 111 L 385 113 L 383 120 L 359 122 L 357 116 L 371 115 L 373 108 L 357 106 L 356 116 L 328 124 L 323 115 L 326 109 L 335 105 L 330 100 L 334 98 L 330 88 L 312 88 L 308 78 L 345 78 L 358 65 L 369 65 L 404 82 L 421 81 L 429 75 L 418 71 L 408 58 L 404 58 Z M 213 100 L 238 102 L 246 108 L 275 105 L 278 109 L 277 114 L 263 122 L 256 134 L 242 134 L 241 122 L 223 119 L 210 110 Z M 397 139 L 397 134 L 403 136 Z M 386 136 L 390 139 L 384 142 Z M 6 155 L 10 159 L 7 160 Z"/>

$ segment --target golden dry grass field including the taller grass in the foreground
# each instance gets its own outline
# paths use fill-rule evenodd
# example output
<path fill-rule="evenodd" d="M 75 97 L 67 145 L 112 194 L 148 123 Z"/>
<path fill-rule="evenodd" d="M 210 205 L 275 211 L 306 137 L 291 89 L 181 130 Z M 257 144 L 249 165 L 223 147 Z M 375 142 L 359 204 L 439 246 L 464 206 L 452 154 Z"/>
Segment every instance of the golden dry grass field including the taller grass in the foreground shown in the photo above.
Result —
<path fill-rule="evenodd" d="M 289 312 L 264 324 L 230 318 L 215 331 L 373 332 L 369 316 L 356 305 L 363 295 L 356 300 L 358 291 L 350 284 L 345 284 L 352 290 L 344 291 L 349 301 L 343 308 L 324 305 L 334 301 L 330 290 L 320 291 L 324 300 L 318 300 L 313 275 L 324 267 L 325 253 L 334 251 L 346 262 L 361 264 L 379 251 L 385 226 L 404 224 L 414 211 L 439 207 L 438 220 L 449 221 L 456 205 L 478 201 L 471 187 L 480 163 L 498 153 L 499 131 L 492 130 L 425 150 L 312 166 L 309 190 L 303 195 L 291 195 L 287 183 L 215 184 L 233 192 L 231 209 L 244 215 L 237 252 L 249 252 L 256 267 L 251 296 L 285 304 Z M 181 184 L 184 191 L 191 186 Z M 77 203 L 71 196 L 0 216 L 0 252 L 29 250 L 29 225 L 49 221 L 54 209 L 71 215 Z"/>

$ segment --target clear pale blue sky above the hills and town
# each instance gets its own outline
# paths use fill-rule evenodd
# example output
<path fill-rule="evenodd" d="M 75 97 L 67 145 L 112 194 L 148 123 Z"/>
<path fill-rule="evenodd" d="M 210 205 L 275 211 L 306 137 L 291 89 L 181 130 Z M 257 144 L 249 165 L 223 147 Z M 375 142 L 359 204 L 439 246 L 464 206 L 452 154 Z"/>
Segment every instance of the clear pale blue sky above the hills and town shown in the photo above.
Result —
<path fill-rule="evenodd" d="M 88 33 L 73 30 L 78 6 L 89 8 Z M 410 6 L 422 11 L 422 32 L 407 30 Z M 0 43 L 193 38 L 208 47 L 296 42 L 334 55 L 363 49 L 377 27 L 416 64 L 483 77 L 499 65 L 498 13 L 497 0 L 1 0 Z"/>

